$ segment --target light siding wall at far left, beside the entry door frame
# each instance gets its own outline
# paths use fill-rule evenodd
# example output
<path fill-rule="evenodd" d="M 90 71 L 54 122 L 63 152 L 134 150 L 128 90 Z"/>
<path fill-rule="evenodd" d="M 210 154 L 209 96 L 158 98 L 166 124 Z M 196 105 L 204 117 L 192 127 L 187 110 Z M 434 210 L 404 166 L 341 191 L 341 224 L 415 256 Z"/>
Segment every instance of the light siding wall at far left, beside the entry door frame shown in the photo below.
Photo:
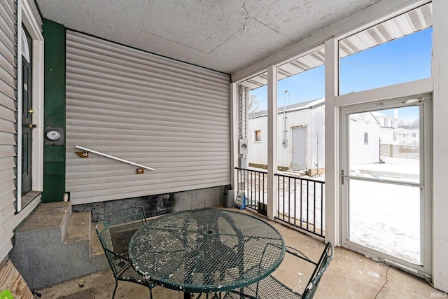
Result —
<path fill-rule="evenodd" d="M 17 111 L 17 2 L 0 1 L 0 260 L 13 244 Z"/>

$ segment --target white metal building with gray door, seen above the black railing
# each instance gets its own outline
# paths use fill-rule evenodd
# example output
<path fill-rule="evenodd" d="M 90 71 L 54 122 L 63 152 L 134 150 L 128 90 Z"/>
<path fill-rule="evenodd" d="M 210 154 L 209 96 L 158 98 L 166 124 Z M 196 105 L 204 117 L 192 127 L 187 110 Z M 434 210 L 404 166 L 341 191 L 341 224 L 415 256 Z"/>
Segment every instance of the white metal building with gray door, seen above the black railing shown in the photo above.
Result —
<path fill-rule="evenodd" d="M 325 171 L 324 99 L 303 102 L 279 109 L 278 167 L 303 170 L 311 175 Z M 251 113 L 248 120 L 250 166 L 267 165 L 267 111 Z"/>

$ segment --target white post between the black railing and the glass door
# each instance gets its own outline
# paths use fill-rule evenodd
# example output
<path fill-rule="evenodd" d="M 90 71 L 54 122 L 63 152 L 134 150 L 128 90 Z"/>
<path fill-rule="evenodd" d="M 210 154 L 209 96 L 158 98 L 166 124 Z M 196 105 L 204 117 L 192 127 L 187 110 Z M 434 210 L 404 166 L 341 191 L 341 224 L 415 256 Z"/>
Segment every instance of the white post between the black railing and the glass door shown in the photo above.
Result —
<path fill-rule="evenodd" d="M 338 43 L 325 42 L 325 242 L 340 245 Z"/>

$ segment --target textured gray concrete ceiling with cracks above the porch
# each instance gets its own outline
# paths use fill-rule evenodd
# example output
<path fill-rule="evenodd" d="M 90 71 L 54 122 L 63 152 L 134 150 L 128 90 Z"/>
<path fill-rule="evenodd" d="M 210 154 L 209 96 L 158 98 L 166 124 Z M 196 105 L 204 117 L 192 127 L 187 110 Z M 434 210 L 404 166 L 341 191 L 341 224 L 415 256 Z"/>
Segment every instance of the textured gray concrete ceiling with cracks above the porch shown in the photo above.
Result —
<path fill-rule="evenodd" d="M 379 0 L 36 0 L 69 29 L 232 74 Z"/>

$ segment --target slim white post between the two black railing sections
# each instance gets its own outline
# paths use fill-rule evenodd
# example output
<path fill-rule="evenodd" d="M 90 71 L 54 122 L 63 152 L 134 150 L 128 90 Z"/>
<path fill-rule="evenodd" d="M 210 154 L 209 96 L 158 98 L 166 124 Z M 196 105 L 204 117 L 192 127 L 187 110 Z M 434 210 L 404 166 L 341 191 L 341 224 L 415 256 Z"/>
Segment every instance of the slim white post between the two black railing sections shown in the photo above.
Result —
<path fill-rule="evenodd" d="M 277 211 L 277 68 L 267 69 L 267 218 Z"/>

